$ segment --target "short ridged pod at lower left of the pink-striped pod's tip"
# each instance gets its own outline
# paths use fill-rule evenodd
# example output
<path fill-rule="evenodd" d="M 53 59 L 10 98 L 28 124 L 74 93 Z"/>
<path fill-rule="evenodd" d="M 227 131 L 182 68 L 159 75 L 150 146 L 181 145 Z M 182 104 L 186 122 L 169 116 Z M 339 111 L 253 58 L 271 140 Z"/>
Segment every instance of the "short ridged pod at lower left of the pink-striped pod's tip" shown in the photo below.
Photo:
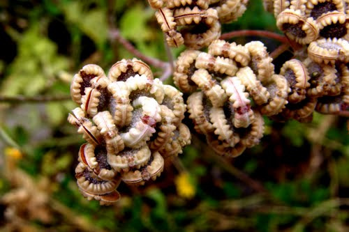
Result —
<path fill-rule="evenodd" d="M 214 126 L 214 134 L 218 136 L 218 139 L 225 141 L 229 146 L 234 147 L 239 141 L 239 137 L 234 133 L 232 123 L 229 123 L 223 108 L 212 107 L 209 111 L 209 118 L 211 119 L 212 125 Z M 229 118 L 228 118 L 229 119 Z"/>

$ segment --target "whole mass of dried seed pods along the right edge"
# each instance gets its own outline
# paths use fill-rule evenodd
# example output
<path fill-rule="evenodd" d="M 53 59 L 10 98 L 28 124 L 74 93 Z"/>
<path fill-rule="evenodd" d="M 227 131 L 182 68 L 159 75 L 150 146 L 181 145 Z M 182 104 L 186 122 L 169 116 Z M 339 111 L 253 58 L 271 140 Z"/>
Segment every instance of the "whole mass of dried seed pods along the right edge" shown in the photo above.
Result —
<path fill-rule="evenodd" d="M 285 36 L 306 51 L 281 68 L 291 93 L 286 109 L 275 118 L 309 121 L 313 109 L 322 114 L 347 110 L 349 1 L 264 0 L 264 6 Z"/>

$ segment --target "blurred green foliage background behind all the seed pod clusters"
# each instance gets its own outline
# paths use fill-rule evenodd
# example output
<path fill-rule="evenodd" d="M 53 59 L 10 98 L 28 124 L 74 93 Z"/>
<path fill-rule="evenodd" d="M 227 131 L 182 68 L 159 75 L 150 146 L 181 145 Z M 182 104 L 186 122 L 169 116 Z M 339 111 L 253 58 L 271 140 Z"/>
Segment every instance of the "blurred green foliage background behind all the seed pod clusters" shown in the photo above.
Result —
<path fill-rule="evenodd" d="M 107 13 L 113 11 L 122 36 L 140 52 L 167 60 L 163 34 L 147 1 L 1 1 L 1 95 L 68 95 L 70 79 L 82 65 L 98 63 L 108 68 L 133 57 L 108 39 Z M 243 17 L 223 26 L 224 31 L 239 29 L 277 31 L 274 17 L 263 11 L 262 1 L 254 0 Z M 255 38 L 237 41 L 251 39 Z M 278 45 L 265 41 L 269 50 Z M 177 57 L 183 49 L 172 49 L 172 53 Z M 181 161 L 169 164 L 161 178 L 139 188 L 121 184 L 121 200 L 103 207 L 84 199 L 75 185 L 77 151 L 83 140 L 66 123 L 73 102 L 3 103 L 0 107 L 4 134 L 0 198 L 23 187 L 11 176 L 24 171 L 34 183 L 48 181 L 43 192 L 50 200 L 45 207 L 54 216 L 42 222 L 27 212 L 15 221 L 20 222 L 17 225 L 0 216 L 5 231 L 10 226 L 23 231 L 349 230 L 345 118 L 314 114 L 312 123 L 275 123 L 265 118 L 262 143 L 234 160 L 216 158 L 205 140 L 193 135 L 192 145 L 179 155 Z M 13 147 L 8 138 L 20 148 L 19 160 L 13 161 L 13 153 L 5 151 Z M 177 194 L 174 185 L 183 170 L 195 188 L 190 199 Z M 251 178 L 246 180 L 246 175 Z M 253 189 L 249 180 L 260 183 L 265 192 Z M 31 201 L 21 207 L 27 209 Z M 1 199 L 1 214 L 9 208 Z"/>

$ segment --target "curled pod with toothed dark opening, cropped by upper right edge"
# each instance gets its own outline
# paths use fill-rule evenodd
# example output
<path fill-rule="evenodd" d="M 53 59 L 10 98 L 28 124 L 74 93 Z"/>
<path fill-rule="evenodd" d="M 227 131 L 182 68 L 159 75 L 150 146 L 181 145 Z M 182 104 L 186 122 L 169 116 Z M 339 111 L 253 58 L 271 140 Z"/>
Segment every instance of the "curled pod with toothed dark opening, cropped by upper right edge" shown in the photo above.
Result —
<path fill-rule="evenodd" d="M 342 38 L 348 34 L 349 24 L 346 13 L 332 11 L 322 14 L 316 20 L 320 36 L 324 38 Z"/>

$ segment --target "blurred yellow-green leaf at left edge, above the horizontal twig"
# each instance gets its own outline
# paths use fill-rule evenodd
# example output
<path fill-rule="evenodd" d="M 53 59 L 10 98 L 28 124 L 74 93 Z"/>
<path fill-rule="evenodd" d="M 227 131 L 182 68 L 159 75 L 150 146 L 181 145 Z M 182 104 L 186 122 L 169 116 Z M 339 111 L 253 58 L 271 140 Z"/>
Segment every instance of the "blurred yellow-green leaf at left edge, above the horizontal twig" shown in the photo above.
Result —
<path fill-rule="evenodd" d="M 57 45 L 40 34 L 38 24 L 23 33 L 18 46 L 10 75 L 1 85 L 3 95 L 38 94 L 45 90 L 48 79 L 68 68 L 68 60 L 57 55 Z"/>

